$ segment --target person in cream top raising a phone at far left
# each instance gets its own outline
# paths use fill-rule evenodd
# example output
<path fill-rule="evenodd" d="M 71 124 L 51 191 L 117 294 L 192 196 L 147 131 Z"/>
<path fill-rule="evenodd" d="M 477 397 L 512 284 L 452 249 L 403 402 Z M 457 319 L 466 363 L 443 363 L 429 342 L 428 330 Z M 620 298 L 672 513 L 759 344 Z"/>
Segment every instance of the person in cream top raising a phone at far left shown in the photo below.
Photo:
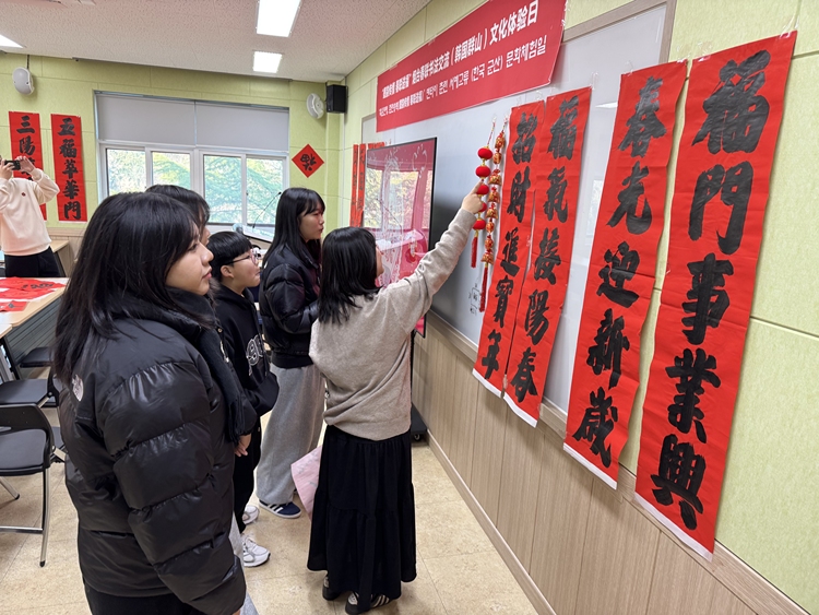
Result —
<path fill-rule="evenodd" d="M 31 179 L 14 177 L 15 170 Z M 7 277 L 59 277 L 40 205 L 60 187 L 32 161 L 20 156 L 0 161 L 0 247 L 5 252 Z"/>

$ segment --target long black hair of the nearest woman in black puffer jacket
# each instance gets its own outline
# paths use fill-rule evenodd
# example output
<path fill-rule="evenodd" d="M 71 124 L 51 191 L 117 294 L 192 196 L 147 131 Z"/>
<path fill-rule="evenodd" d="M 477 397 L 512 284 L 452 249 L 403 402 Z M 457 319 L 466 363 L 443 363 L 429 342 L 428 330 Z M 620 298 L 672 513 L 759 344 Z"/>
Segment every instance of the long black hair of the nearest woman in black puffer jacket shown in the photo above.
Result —
<path fill-rule="evenodd" d="M 134 298 L 207 324 L 179 306 L 165 285 L 173 264 L 199 241 L 198 225 L 188 209 L 158 193 L 122 192 L 99 204 L 57 317 L 58 378 L 70 381 L 86 344 L 93 352 L 99 340 L 110 339 L 115 318 L 128 316 Z"/>

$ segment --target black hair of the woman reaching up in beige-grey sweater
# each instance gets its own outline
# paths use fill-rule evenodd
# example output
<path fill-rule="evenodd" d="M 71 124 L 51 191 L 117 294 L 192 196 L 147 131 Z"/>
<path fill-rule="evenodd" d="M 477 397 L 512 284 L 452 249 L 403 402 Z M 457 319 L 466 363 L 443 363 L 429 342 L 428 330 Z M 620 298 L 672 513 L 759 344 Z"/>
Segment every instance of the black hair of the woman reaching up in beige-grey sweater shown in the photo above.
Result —
<path fill-rule="evenodd" d="M 324 237 L 321 261 L 319 321 L 341 323 L 356 307 L 355 297 L 378 293 L 376 238 L 364 228 L 336 228 Z"/>

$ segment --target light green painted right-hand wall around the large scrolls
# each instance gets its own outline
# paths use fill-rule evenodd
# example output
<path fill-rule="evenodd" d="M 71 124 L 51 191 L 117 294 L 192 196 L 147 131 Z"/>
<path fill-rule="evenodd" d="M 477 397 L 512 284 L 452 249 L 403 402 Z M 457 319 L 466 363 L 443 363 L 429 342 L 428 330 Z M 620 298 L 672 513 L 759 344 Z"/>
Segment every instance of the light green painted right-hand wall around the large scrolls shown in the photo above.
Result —
<path fill-rule="evenodd" d="M 352 146 L 361 140 L 361 120 L 375 114 L 379 73 L 480 4 L 432 0 L 347 75 L 340 224 L 348 220 Z M 566 27 L 624 4 L 625 0 L 569 0 Z M 810 132 L 819 127 L 819 2 L 677 0 L 669 59 L 696 58 L 779 35 L 794 25 L 799 34 L 771 177 L 716 539 L 809 613 L 819 613 L 819 241 L 812 238 L 819 228 L 819 139 Z M 677 141 L 680 132 L 681 121 Z M 670 168 L 675 165 L 676 151 Z M 669 196 L 672 187 L 673 172 Z M 646 353 L 654 347 L 666 250 L 664 236 L 653 314 L 643 334 Z M 650 356 L 642 358 L 645 380 Z M 640 395 L 621 459 L 632 472 L 641 404 Z"/>

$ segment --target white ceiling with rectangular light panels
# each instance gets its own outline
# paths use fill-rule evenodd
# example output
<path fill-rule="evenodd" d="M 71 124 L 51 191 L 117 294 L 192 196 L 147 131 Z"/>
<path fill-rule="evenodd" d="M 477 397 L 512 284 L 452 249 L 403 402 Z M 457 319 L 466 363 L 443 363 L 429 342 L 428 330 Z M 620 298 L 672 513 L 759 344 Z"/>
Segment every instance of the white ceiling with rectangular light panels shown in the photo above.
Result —
<path fill-rule="evenodd" d="M 274 76 L 337 81 L 429 0 L 301 0 L 288 38 L 256 34 L 257 0 L 0 0 L 10 54 L 254 73 L 253 51 L 284 55 Z"/>

